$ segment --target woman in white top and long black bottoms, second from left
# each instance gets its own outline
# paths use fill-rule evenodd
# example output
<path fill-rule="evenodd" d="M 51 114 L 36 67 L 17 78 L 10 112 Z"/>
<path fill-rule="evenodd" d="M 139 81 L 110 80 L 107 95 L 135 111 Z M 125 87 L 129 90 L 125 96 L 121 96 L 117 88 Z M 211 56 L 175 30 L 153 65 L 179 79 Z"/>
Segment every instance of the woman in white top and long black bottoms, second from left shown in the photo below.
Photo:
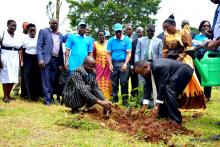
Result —
<path fill-rule="evenodd" d="M 28 35 L 23 40 L 24 82 L 27 99 L 37 101 L 42 96 L 41 75 L 37 59 L 37 37 L 35 24 L 28 24 Z"/>

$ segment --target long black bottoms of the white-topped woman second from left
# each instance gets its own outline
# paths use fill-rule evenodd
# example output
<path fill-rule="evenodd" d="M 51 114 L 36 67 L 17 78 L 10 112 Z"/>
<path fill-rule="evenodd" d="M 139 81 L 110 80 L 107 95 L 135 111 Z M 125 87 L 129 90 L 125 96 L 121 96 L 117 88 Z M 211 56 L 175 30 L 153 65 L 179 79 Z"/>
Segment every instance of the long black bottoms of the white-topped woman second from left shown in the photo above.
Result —
<path fill-rule="evenodd" d="M 41 75 L 37 55 L 24 53 L 24 83 L 28 99 L 36 100 L 42 96 Z"/>

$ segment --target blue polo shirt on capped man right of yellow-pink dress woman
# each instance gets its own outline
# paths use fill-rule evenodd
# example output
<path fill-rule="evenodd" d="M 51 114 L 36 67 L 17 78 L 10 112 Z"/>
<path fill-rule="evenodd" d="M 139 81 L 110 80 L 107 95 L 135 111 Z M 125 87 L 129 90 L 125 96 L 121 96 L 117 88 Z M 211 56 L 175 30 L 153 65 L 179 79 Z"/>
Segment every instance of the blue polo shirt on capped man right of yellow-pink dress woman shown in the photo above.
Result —
<path fill-rule="evenodd" d="M 121 39 L 114 36 L 108 41 L 107 51 L 112 53 L 112 61 L 125 61 L 127 51 L 131 51 L 131 41 L 127 36 Z"/>

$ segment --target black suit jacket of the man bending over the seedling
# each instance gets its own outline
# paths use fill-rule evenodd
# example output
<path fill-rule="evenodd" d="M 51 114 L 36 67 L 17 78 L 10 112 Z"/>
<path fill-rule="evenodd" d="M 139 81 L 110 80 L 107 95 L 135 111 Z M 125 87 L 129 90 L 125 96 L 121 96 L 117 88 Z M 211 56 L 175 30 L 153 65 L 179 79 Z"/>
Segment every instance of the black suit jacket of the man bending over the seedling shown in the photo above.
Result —
<path fill-rule="evenodd" d="M 186 80 L 186 77 L 192 77 L 194 71 L 187 64 L 166 58 L 153 60 L 151 69 L 157 87 L 157 100 L 161 101 L 163 101 L 164 97 L 166 97 L 167 85 L 174 86 L 173 89 L 177 89 L 176 87 L 180 87 Z M 151 78 L 145 77 L 144 99 L 150 99 L 151 91 Z"/>

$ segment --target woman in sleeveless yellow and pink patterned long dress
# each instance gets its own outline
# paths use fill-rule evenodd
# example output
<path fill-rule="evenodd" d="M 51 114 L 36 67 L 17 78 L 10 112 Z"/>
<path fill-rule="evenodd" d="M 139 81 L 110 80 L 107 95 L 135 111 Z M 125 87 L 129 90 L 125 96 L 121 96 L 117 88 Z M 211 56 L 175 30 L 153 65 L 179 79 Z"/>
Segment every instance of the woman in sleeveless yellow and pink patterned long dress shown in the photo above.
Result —
<path fill-rule="evenodd" d="M 98 31 L 98 41 L 93 44 L 93 57 L 96 60 L 96 80 L 104 96 L 110 100 L 112 84 L 110 80 L 111 71 L 107 61 L 107 41 L 105 31 Z"/>

